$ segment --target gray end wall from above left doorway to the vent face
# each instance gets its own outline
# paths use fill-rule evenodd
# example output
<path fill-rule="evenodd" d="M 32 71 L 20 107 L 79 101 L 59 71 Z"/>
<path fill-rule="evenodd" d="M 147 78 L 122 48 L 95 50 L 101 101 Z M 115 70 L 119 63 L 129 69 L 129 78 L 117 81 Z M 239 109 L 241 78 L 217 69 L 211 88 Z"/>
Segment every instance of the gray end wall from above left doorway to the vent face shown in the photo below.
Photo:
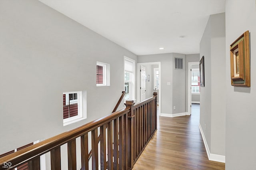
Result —
<path fill-rule="evenodd" d="M 174 58 L 183 58 L 183 69 L 174 69 Z M 185 55 L 164 53 L 139 55 L 138 63 L 161 62 L 161 113 L 185 112 Z M 167 85 L 171 82 L 171 85 Z M 173 109 L 176 106 L 176 110 Z"/>

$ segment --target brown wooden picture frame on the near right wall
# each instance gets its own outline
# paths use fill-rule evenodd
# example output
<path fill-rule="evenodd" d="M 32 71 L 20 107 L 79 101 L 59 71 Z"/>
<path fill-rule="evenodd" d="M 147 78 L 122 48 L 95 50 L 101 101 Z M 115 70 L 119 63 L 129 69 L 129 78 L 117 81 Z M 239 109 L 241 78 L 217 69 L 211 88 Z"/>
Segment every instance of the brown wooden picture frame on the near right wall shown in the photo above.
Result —
<path fill-rule="evenodd" d="M 250 87 L 249 31 L 230 45 L 230 75 L 232 86 Z"/>

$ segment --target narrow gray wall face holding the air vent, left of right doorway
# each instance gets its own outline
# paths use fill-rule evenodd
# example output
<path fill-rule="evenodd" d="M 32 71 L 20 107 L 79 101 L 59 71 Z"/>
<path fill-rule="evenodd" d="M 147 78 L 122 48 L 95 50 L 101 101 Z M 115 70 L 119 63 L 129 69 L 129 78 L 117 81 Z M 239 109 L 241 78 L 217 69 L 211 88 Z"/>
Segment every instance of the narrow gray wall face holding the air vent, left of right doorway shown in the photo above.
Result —
<path fill-rule="evenodd" d="M 183 69 L 174 69 L 175 57 L 183 58 Z M 172 53 L 172 114 L 185 112 L 185 55 Z M 162 93 L 162 92 L 161 92 Z M 174 110 L 175 106 L 175 110 Z"/>

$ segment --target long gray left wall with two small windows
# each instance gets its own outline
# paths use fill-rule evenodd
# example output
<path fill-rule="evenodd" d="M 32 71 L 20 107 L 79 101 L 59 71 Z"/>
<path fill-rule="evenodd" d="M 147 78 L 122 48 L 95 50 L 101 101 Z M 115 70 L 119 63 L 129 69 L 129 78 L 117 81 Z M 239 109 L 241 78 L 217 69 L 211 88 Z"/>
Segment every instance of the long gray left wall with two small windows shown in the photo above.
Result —
<path fill-rule="evenodd" d="M 112 112 L 136 55 L 35 0 L 1 0 L 0 23 L 0 154 Z M 110 86 L 96 87 L 96 61 Z M 78 90 L 87 119 L 63 127 L 62 93 Z"/>

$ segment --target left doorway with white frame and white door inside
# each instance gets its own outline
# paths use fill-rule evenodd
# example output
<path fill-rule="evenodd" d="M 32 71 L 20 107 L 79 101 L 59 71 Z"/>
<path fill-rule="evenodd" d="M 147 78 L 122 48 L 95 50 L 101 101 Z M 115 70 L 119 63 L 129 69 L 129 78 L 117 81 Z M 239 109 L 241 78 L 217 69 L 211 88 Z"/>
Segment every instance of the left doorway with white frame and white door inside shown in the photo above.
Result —
<path fill-rule="evenodd" d="M 161 109 L 161 63 L 137 63 L 137 101 L 143 101 L 157 92 L 158 113 Z"/>

